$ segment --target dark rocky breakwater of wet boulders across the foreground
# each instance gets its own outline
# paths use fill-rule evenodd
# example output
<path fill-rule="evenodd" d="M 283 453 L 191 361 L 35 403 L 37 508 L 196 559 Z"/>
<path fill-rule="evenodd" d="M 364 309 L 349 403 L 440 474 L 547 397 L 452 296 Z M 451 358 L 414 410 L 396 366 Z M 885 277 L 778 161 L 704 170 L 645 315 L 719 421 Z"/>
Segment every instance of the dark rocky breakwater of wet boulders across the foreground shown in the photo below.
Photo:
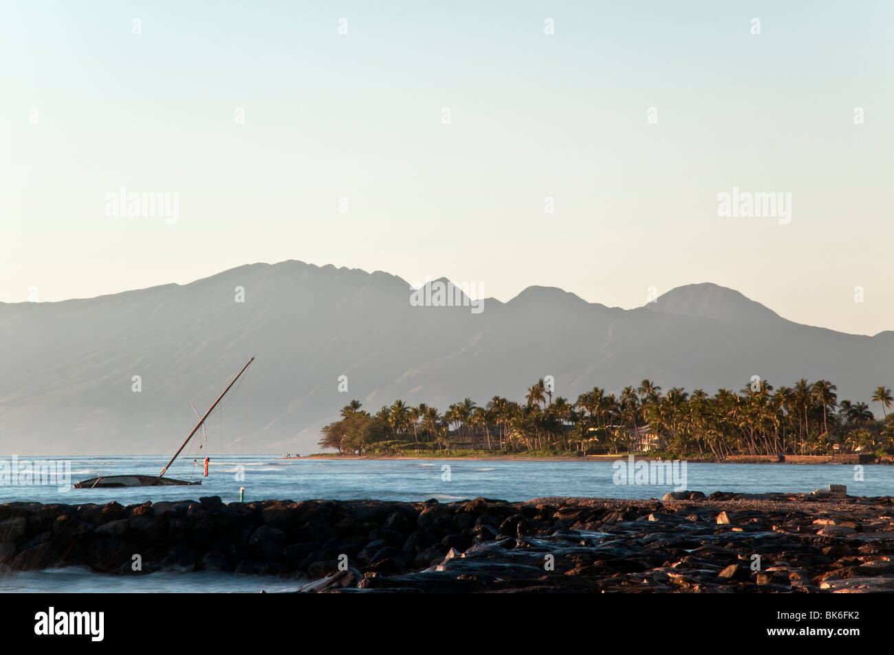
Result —
<path fill-rule="evenodd" d="M 306 592 L 894 592 L 894 500 L 0 505 L 0 573 L 294 577 Z M 136 564 L 139 561 L 139 567 Z"/>

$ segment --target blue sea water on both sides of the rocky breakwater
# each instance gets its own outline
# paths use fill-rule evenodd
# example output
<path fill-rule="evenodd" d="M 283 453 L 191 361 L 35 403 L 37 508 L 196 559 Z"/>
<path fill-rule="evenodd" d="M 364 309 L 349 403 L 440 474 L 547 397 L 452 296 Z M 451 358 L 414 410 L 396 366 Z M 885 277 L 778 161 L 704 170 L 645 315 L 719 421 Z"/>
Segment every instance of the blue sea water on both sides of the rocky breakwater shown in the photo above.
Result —
<path fill-rule="evenodd" d="M 21 461 L 25 456 L 18 456 Z M 0 462 L 11 456 L 0 457 Z M 32 461 L 49 458 L 30 458 Z M 680 483 L 616 484 L 619 469 L 611 461 L 508 460 L 338 460 L 277 459 L 270 455 L 212 457 L 208 477 L 191 459 L 179 461 L 166 474 L 201 479 L 200 486 L 72 489 L 71 483 L 97 475 L 157 474 L 164 457 L 74 457 L 71 481 L 62 484 L 0 483 L 0 502 L 30 500 L 42 503 L 105 503 L 129 505 L 146 500 L 198 500 L 220 496 L 223 502 L 308 499 L 428 500 L 441 502 L 477 497 L 529 500 L 546 496 L 605 498 L 661 498 Z M 625 470 L 628 461 L 623 460 Z M 201 464 L 201 460 L 199 460 Z M 449 467 L 449 468 L 447 468 Z M 683 469 L 678 467 L 681 475 Z M 894 466 L 863 466 L 862 481 L 855 466 L 798 464 L 687 464 L 685 484 L 692 491 L 812 491 L 829 484 L 848 485 L 852 496 L 894 495 Z M 297 586 L 281 578 L 197 572 L 158 573 L 126 578 L 97 575 L 76 567 L 53 571 L 0 575 L 0 592 L 259 592 L 286 591 Z"/>

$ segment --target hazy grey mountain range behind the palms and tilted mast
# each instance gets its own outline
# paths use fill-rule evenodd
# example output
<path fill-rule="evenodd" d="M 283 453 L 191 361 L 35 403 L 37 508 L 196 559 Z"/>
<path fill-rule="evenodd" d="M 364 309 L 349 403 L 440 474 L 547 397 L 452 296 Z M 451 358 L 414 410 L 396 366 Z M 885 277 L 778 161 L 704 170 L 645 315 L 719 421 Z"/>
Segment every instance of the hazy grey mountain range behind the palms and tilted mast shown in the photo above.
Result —
<path fill-rule="evenodd" d="M 438 305 L 435 282 L 460 302 Z M 521 400 L 544 375 L 572 402 L 645 377 L 709 393 L 754 374 L 776 386 L 825 378 L 839 398 L 864 401 L 894 381 L 894 332 L 792 323 L 713 284 L 632 310 L 528 287 L 507 303 L 485 298 L 480 313 L 448 281 L 427 286 L 431 302 L 416 307 L 409 283 L 388 273 L 288 261 L 100 298 L 0 303 L 0 444 L 8 454 L 172 452 L 195 424 L 190 402 L 208 407 L 252 356 L 208 421 L 216 452 L 316 451 L 320 426 L 350 399 L 374 413 L 399 397 L 443 410 L 467 396 Z"/>

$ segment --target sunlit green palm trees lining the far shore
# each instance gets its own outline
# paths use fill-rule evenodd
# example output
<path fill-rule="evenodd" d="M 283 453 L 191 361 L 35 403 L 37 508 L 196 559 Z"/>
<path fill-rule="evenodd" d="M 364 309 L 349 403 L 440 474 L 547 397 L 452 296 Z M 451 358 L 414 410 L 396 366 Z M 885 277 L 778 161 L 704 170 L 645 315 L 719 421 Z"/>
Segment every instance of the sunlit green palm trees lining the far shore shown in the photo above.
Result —
<path fill-rule="evenodd" d="M 826 380 L 799 380 L 774 389 L 755 378 L 738 392 L 713 395 L 674 387 L 667 392 L 651 380 L 620 394 L 599 387 L 574 402 L 557 396 L 539 380 L 524 402 L 494 396 L 484 406 L 463 399 L 441 412 L 426 403 L 401 399 L 375 415 L 351 400 L 341 420 L 325 425 L 319 445 L 340 454 L 364 455 L 408 450 L 488 452 L 620 453 L 637 449 L 673 455 L 831 454 L 880 450 L 894 453 L 891 390 L 872 395 L 883 417 L 868 405 L 843 399 Z"/>

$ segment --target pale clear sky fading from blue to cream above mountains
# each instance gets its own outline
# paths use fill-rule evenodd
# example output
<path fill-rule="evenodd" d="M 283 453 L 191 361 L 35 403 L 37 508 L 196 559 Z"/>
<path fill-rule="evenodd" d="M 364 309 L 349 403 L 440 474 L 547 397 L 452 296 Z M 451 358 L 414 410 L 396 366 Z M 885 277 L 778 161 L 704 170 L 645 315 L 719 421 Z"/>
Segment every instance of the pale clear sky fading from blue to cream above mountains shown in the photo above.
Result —
<path fill-rule="evenodd" d="M 2 301 L 300 259 L 894 329 L 894 3 L 0 7 Z M 719 216 L 733 187 L 790 223 Z"/>

